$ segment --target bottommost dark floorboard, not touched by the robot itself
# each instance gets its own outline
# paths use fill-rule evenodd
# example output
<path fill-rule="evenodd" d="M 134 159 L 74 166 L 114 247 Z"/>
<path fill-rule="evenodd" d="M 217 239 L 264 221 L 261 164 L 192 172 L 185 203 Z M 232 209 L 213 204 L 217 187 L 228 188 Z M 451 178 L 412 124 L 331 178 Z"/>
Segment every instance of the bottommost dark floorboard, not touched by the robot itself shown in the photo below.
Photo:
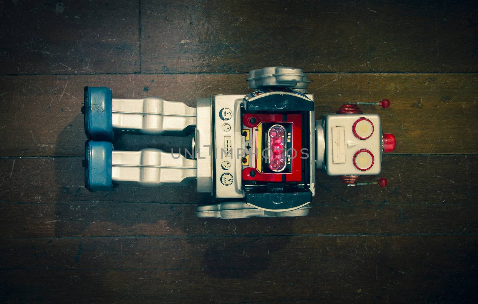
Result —
<path fill-rule="evenodd" d="M 2 302 L 470 303 L 477 296 L 476 236 L 3 242 Z"/>

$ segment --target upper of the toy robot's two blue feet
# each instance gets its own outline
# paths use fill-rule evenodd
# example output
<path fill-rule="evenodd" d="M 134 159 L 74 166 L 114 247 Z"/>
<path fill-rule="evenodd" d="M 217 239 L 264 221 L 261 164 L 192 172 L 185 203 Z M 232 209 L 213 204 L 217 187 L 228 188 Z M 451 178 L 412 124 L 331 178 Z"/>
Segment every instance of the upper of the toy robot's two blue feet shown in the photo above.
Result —
<path fill-rule="evenodd" d="M 94 141 L 113 141 L 111 89 L 108 87 L 85 87 L 85 133 Z"/>

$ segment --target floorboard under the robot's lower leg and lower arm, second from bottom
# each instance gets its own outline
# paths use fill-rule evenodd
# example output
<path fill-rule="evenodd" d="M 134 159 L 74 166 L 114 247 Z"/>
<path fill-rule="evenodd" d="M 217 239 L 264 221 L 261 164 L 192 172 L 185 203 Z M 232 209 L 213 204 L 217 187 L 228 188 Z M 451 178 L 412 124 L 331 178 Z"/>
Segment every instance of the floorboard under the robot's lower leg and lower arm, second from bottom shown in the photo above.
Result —
<path fill-rule="evenodd" d="M 90 193 L 83 187 L 81 159 L 1 159 L 0 237 L 477 232 L 478 156 L 388 156 L 384 163 L 385 189 L 346 187 L 317 171 L 307 217 L 219 220 L 196 217 L 195 205 L 211 198 L 197 194 L 195 185 L 119 185 L 113 192 Z"/>

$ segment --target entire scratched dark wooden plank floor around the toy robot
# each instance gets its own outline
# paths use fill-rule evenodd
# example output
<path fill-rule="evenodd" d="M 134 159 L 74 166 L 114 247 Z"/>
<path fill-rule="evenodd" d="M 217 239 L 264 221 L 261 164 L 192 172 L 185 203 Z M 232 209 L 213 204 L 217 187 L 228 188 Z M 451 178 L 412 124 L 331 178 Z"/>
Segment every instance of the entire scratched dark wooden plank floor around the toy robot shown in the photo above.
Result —
<path fill-rule="evenodd" d="M 476 1 L 0 2 L 0 302 L 476 303 Z M 85 189 L 84 86 L 194 106 L 269 65 L 309 73 L 317 118 L 391 100 L 363 107 L 397 138 L 387 188 L 317 171 L 309 216 L 244 220 L 196 218 L 195 187 Z"/>

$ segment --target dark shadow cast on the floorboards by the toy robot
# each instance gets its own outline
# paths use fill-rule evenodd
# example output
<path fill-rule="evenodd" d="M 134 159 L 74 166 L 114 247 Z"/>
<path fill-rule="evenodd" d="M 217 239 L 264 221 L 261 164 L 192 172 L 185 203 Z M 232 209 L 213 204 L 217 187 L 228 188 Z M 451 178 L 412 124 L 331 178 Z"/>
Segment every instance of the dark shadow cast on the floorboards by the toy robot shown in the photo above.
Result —
<path fill-rule="evenodd" d="M 73 120 L 76 124 L 83 120 L 83 115 L 78 115 L 81 117 Z M 70 125 L 59 133 L 57 142 L 73 142 L 71 137 Z M 190 140 L 191 136 L 123 135 L 114 142 L 114 147 L 115 150 L 134 151 L 148 147 L 177 152 L 179 148 L 188 147 Z M 201 236 L 205 250 L 202 257 L 197 258 L 202 260 L 204 272 L 217 278 L 247 278 L 266 270 L 270 254 L 289 242 L 289 238 L 281 238 L 281 242 L 274 243 L 264 252 L 261 237 L 254 235 L 267 234 L 268 227 L 275 231 L 280 227 L 281 235 L 293 234 L 294 218 L 197 218 L 195 206 L 212 204 L 214 200 L 208 194 L 197 193 L 195 183 L 186 187 L 151 188 L 122 184 L 111 192 L 91 193 L 84 188 L 82 160 L 83 157 L 56 159 L 56 215 L 68 218 L 55 223 L 57 237 L 190 236 L 194 238 L 185 238 L 186 241 L 196 246 L 197 237 Z M 239 242 L 237 237 L 241 238 Z M 144 260 L 149 259 L 144 257 Z"/>

